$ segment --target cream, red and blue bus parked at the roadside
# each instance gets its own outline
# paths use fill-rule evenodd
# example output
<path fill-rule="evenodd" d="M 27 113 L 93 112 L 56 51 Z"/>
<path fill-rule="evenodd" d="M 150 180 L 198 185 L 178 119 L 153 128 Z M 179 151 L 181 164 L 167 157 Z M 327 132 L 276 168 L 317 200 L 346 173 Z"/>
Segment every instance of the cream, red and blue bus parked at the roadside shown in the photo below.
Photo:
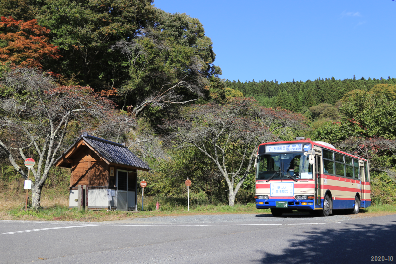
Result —
<path fill-rule="evenodd" d="M 293 210 L 329 216 L 371 205 L 364 158 L 309 139 L 260 144 L 255 161 L 256 207 L 275 217 Z"/>

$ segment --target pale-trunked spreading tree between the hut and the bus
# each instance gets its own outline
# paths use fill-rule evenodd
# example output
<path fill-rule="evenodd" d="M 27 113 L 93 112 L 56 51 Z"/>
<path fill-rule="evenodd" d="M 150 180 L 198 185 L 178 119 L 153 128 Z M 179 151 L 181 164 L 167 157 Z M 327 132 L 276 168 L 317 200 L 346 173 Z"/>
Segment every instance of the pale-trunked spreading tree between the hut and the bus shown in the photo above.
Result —
<path fill-rule="evenodd" d="M 302 116 L 282 109 L 262 108 L 246 98 L 228 104 L 195 105 L 185 116 L 161 126 L 170 144 L 197 148 L 205 154 L 228 188 L 229 205 L 252 168 L 258 145 L 277 141 L 302 127 Z"/>

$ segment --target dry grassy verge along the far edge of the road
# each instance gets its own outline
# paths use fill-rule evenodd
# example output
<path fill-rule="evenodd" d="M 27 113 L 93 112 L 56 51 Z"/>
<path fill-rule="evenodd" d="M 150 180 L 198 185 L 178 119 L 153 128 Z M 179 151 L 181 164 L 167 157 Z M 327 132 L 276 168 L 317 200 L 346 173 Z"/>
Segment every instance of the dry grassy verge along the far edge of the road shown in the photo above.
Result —
<path fill-rule="evenodd" d="M 160 210 L 154 207 L 156 201 L 161 204 Z M 0 198 L 0 219 L 1 220 L 61 220 L 61 221 L 84 221 L 101 222 L 115 221 L 134 218 L 145 218 L 153 216 L 181 216 L 194 214 L 270 214 L 268 209 L 256 209 L 255 204 L 247 205 L 236 204 L 234 207 L 228 205 L 211 205 L 195 203 L 190 206 L 177 204 L 176 200 L 160 200 L 158 197 L 147 197 L 144 200 L 144 211 L 77 211 L 68 208 L 67 199 L 48 199 L 43 198 L 43 208 L 38 210 L 24 210 L 24 202 L 21 198 L 14 201 L 5 201 Z M 141 209 L 141 200 L 138 200 L 138 209 Z M 376 205 L 367 209 L 361 209 L 359 216 L 375 217 L 381 215 L 396 214 L 396 205 Z"/>

